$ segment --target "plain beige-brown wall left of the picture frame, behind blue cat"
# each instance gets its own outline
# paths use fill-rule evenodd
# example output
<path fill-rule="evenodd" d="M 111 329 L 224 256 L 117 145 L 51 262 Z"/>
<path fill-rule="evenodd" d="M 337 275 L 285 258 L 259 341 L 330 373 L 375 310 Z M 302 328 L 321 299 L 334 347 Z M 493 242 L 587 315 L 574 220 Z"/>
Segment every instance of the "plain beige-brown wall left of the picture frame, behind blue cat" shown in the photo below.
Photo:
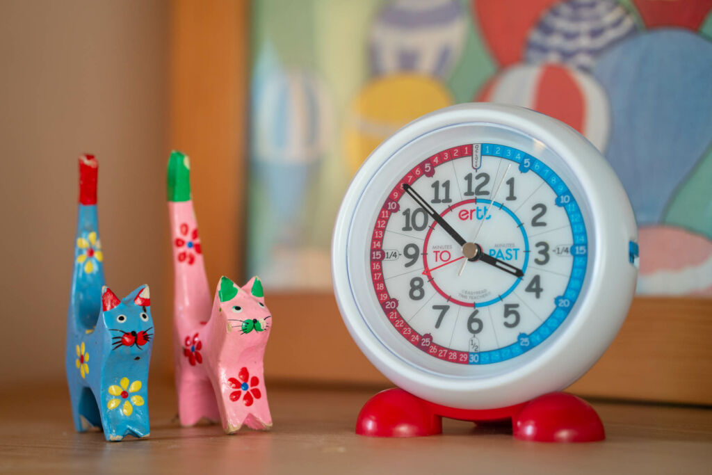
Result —
<path fill-rule="evenodd" d="M 63 379 L 77 156 L 99 160 L 108 284 L 169 312 L 164 199 L 168 9 L 159 1 L 0 2 L 2 385 Z M 158 319 L 157 363 L 169 357 Z M 154 365 L 155 367 L 155 365 Z"/>

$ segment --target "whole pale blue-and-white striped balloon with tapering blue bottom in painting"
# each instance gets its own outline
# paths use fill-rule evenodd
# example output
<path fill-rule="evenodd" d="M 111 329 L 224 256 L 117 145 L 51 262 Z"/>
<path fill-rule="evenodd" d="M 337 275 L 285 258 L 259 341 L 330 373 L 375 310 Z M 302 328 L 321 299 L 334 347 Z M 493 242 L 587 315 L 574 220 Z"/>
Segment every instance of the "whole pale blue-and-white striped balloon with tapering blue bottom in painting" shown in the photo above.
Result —
<path fill-rule="evenodd" d="M 333 137 L 333 101 L 313 71 L 275 68 L 253 81 L 252 107 L 253 170 L 268 188 L 268 210 L 296 234 L 289 224 L 298 222 L 295 213 Z"/>

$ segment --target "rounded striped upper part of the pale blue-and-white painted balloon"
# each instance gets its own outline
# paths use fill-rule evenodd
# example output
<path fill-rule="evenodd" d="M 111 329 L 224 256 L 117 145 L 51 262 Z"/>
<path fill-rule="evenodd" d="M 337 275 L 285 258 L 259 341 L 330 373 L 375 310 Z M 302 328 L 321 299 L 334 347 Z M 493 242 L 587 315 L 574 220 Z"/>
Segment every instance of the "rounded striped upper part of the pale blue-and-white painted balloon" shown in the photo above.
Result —
<path fill-rule="evenodd" d="M 276 69 L 253 85 L 253 156 L 259 161 L 307 164 L 333 138 L 333 100 L 313 71 Z"/>

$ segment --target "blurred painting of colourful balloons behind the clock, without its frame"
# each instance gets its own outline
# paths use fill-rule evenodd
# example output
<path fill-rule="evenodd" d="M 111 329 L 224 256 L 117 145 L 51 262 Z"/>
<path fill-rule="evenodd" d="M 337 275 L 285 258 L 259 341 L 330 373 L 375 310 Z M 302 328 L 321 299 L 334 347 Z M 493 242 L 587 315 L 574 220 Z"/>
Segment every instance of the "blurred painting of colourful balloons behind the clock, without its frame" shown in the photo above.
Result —
<path fill-rule="evenodd" d="M 712 0 L 253 2 L 248 275 L 330 291 L 358 167 L 455 103 L 522 105 L 607 157 L 639 293 L 712 296 Z"/>

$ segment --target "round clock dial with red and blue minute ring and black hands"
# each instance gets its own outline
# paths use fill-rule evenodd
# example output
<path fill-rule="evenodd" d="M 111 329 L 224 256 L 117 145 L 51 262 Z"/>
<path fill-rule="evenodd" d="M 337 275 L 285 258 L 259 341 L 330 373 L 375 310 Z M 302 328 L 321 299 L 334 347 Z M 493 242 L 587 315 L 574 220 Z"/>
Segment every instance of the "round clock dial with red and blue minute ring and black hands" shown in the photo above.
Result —
<path fill-rule="evenodd" d="M 418 159 L 373 220 L 370 275 L 382 318 L 427 355 L 461 365 L 543 343 L 586 273 L 586 226 L 570 188 L 503 143 Z"/>

